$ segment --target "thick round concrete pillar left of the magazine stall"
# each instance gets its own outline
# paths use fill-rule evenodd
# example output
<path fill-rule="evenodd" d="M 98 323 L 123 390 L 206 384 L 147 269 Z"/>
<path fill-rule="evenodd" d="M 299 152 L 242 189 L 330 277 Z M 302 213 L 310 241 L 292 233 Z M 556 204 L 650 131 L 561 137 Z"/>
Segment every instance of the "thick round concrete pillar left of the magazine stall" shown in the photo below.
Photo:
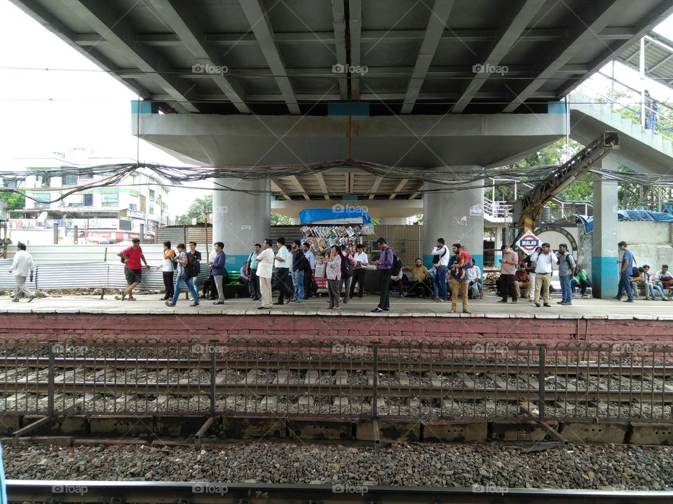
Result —
<path fill-rule="evenodd" d="M 269 237 L 271 231 L 271 195 L 238 192 L 270 191 L 271 181 L 216 179 L 215 188 L 226 186 L 236 190 L 215 190 L 212 196 L 212 238 L 224 243 L 226 269 L 240 269 L 254 244 Z"/>

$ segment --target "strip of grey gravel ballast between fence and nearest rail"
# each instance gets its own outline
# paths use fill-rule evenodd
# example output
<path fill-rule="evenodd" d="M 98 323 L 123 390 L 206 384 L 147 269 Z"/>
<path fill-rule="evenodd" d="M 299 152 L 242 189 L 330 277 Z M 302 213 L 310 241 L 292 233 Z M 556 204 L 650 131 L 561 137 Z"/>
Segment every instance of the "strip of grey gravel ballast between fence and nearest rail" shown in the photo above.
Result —
<path fill-rule="evenodd" d="M 4 447 L 11 479 L 96 479 L 673 491 L 673 448 L 281 442 Z M 506 490 L 505 490 L 506 491 Z M 673 496 L 673 494 L 672 494 Z"/>

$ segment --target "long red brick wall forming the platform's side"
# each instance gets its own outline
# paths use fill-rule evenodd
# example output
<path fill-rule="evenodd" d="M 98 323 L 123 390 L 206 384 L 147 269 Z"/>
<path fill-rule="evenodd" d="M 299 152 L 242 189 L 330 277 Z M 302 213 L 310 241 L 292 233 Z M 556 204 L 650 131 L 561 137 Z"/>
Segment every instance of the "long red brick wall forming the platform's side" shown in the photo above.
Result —
<path fill-rule="evenodd" d="M 0 337 L 673 342 L 673 321 L 294 315 L 0 314 Z"/>

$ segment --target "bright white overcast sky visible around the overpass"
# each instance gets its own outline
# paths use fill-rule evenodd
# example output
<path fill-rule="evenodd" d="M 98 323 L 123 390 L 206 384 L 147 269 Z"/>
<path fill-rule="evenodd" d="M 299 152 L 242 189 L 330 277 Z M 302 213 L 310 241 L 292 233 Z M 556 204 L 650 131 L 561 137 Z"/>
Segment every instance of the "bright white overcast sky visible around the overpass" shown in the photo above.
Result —
<path fill-rule="evenodd" d="M 673 16 L 655 31 L 673 39 Z M 101 158 L 98 164 L 110 162 L 104 158 L 133 161 L 140 148 L 141 162 L 185 166 L 132 136 L 130 102 L 137 98 L 132 91 L 8 0 L 0 0 L 0 47 L 0 169 L 22 169 L 27 160 L 21 158 L 55 158 L 73 148 L 92 152 Z M 637 72 L 621 64 L 616 77 L 640 85 Z M 589 85 L 600 88 L 606 81 L 594 78 Z M 653 97 L 673 102 L 669 87 L 652 81 L 647 87 Z M 170 216 L 183 214 L 189 202 L 206 194 L 172 188 Z"/>

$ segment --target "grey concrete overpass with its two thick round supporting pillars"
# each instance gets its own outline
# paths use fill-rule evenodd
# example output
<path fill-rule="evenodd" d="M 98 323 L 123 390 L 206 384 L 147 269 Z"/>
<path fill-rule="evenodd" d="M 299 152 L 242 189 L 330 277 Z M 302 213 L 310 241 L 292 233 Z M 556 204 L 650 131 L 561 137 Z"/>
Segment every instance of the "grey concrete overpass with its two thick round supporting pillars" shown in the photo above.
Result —
<path fill-rule="evenodd" d="M 554 102 L 673 12 L 673 0 L 11 1 L 136 92 L 137 133 L 183 160 L 357 158 L 458 176 L 563 137 Z M 347 167 L 215 182 L 288 205 L 422 197 L 425 248 L 444 236 L 481 259 L 481 189 L 423 195 L 435 184 Z M 270 207 L 215 192 L 229 257 L 268 233 Z"/>

